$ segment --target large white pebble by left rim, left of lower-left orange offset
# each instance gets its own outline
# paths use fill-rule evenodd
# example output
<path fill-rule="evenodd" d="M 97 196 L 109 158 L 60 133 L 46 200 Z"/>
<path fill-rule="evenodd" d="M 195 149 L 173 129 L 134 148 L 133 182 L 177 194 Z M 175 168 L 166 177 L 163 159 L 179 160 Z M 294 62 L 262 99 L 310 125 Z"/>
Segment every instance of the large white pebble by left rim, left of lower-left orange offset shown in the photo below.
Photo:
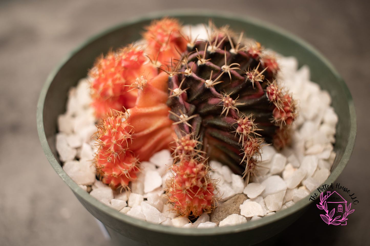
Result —
<path fill-rule="evenodd" d="M 63 165 L 63 170 L 70 176 L 74 182 L 80 185 L 92 185 L 95 178 L 95 167 L 91 161 L 67 161 Z"/>

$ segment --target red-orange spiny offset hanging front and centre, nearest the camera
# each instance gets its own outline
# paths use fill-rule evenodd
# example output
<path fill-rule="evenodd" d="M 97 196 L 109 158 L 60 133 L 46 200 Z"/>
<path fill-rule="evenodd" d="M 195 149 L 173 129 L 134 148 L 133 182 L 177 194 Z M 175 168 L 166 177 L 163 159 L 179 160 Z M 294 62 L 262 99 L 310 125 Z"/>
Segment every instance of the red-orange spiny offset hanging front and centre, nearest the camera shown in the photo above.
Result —
<path fill-rule="evenodd" d="M 215 182 L 209 177 L 208 160 L 197 149 L 199 141 L 191 134 L 176 140 L 175 163 L 171 166 L 174 178 L 168 185 L 168 200 L 178 216 L 196 218 L 212 212 Z"/>

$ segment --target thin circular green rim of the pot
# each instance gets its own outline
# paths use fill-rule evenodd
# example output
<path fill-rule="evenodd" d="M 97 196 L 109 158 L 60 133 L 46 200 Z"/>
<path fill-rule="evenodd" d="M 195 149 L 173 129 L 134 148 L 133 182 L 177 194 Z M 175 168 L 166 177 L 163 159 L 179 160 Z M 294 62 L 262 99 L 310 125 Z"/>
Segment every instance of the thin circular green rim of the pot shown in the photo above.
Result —
<path fill-rule="evenodd" d="M 190 14 L 189 14 L 190 13 Z M 81 198 L 83 198 L 85 201 L 93 205 L 95 208 L 99 209 L 100 211 L 114 217 L 117 220 L 123 221 L 127 224 L 137 226 L 143 229 L 155 231 L 155 232 L 162 232 L 167 234 L 174 234 L 174 235 L 192 235 L 192 236 L 212 236 L 212 235 L 220 235 L 220 234 L 229 234 L 229 233 L 236 233 L 241 232 L 245 230 L 252 230 L 255 228 L 258 228 L 260 226 L 267 225 L 272 222 L 279 221 L 280 219 L 295 213 L 297 211 L 300 211 L 301 209 L 305 208 L 306 206 L 312 204 L 313 201 L 307 201 L 307 199 L 302 199 L 298 201 L 295 205 L 284 209 L 283 211 L 279 211 L 275 215 L 267 216 L 262 219 L 259 219 L 258 221 L 254 221 L 253 223 L 243 223 L 240 225 L 235 226 L 225 226 L 225 227 L 216 227 L 216 228 L 206 228 L 206 229 L 196 229 L 196 228 L 175 228 L 172 226 L 163 226 L 163 225 L 156 225 L 153 223 L 149 223 L 146 221 L 141 221 L 139 219 L 133 218 L 131 216 L 128 216 L 124 213 L 120 213 L 119 211 L 110 208 L 109 206 L 101 203 L 94 197 L 92 197 L 88 192 L 84 191 L 80 186 L 78 186 L 63 170 L 61 165 L 58 163 L 57 159 L 53 155 L 50 146 L 48 145 L 46 134 L 44 131 L 44 124 L 43 124 L 43 110 L 44 110 L 44 101 L 46 99 L 46 94 L 48 92 L 48 89 L 53 82 L 54 77 L 57 75 L 58 71 L 61 69 L 61 67 L 64 66 L 64 64 L 72 58 L 80 49 L 84 48 L 86 45 L 90 44 L 91 42 L 97 40 L 98 38 L 103 37 L 104 35 L 111 33 L 112 31 L 118 30 L 120 28 L 123 28 L 125 26 L 132 25 L 134 23 L 138 23 L 140 21 L 145 20 L 152 20 L 161 18 L 164 16 L 171 16 L 171 17 L 180 17 L 180 16 L 204 16 L 204 17 L 222 17 L 222 18 L 228 18 L 230 20 L 236 20 L 236 21 L 243 21 L 244 23 L 250 23 L 253 24 L 259 28 L 263 28 L 265 30 L 268 30 L 273 33 L 277 33 L 280 35 L 283 35 L 290 40 L 298 43 L 303 48 L 307 49 L 309 52 L 313 53 L 314 56 L 319 58 L 332 72 L 332 74 L 337 79 L 339 85 L 344 89 L 346 92 L 346 100 L 348 101 L 348 107 L 349 107 L 349 113 L 350 113 L 350 129 L 349 129 L 349 136 L 348 136 L 348 142 L 347 146 L 345 148 L 345 151 L 343 153 L 343 157 L 339 161 L 337 167 L 331 171 L 330 176 L 327 178 L 327 180 L 324 183 L 331 183 L 336 180 L 336 178 L 339 176 L 339 174 L 343 171 L 344 167 L 346 166 L 347 162 L 349 161 L 349 158 L 351 156 L 351 153 L 353 151 L 354 143 L 356 140 L 356 129 L 357 129 L 357 120 L 356 120 L 356 112 L 354 108 L 353 98 L 350 94 L 349 88 L 347 87 L 346 83 L 343 81 L 342 77 L 339 75 L 339 73 L 336 71 L 334 66 L 315 48 L 312 47 L 312 45 L 308 44 L 306 41 L 303 41 L 301 38 L 283 30 L 280 27 L 276 27 L 273 24 L 266 23 L 265 21 L 257 20 L 255 18 L 245 17 L 245 16 L 237 16 L 230 12 L 220 12 L 220 11 L 213 11 L 213 10 L 194 10 L 194 9 L 183 9 L 183 10 L 168 10 L 168 11 L 160 11 L 155 12 L 151 14 L 147 14 L 145 17 L 135 17 L 131 18 L 128 21 L 124 21 L 121 24 L 115 25 L 114 27 L 108 28 L 105 31 L 102 31 L 101 33 L 94 35 L 87 39 L 83 44 L 79 45 L 77 48 L 73 49 L 73 51 L 70 52 L 64 59 L 57 65 L 55 68 L 50 72 L 48 75 L 46 82 L 41 89 L 40 98 L 38 100 L 37 104 L 37 130 L 38 130 L 38 136 L 41 142 L 41 145 L 43 147 L 44 153 L 54 168 L 54 170 L 57 172 L 57 174 L 68 184 L 68 186 L 72 189 L 72 191 L 76 194 L 78 194 Z M 314 192 L 311 192 L 310 195 L 314 194 Z"/>

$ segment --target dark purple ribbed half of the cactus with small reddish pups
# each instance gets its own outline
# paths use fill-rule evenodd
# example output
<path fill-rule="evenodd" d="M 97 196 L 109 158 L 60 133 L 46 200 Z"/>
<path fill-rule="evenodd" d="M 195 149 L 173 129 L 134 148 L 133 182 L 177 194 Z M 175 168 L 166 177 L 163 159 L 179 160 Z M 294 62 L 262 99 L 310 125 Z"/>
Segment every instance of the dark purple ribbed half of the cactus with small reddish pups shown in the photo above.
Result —
<path fill-rule="evenodd" d="M 275 59 L 263 55 L 259 43 L 241 44 L 242 34 L 224 30 L 188 45 L 169 73 L 167 105 L 178 139 L 196 140 L 199 156 L 249 179 L 262 143 L 281 148 L 289 142 L 295 103 L 275 82 Z"/>

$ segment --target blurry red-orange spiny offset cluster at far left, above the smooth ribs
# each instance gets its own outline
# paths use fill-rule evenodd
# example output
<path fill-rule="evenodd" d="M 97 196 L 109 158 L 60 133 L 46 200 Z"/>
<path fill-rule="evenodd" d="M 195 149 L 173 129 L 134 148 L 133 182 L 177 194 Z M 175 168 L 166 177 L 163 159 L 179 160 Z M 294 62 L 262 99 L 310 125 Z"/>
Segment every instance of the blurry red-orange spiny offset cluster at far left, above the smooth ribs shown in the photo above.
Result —
<path fill-rule="evenodd" d="M 157 74 L 158 69 L 138 46 L 129 45 L 117 53 L 110 51 L 106 57 L 98 58 L 89 72 L 96 117 L 107 116 L 110 109 L 122 111 L 133 107 L 142 81 Z"/>

